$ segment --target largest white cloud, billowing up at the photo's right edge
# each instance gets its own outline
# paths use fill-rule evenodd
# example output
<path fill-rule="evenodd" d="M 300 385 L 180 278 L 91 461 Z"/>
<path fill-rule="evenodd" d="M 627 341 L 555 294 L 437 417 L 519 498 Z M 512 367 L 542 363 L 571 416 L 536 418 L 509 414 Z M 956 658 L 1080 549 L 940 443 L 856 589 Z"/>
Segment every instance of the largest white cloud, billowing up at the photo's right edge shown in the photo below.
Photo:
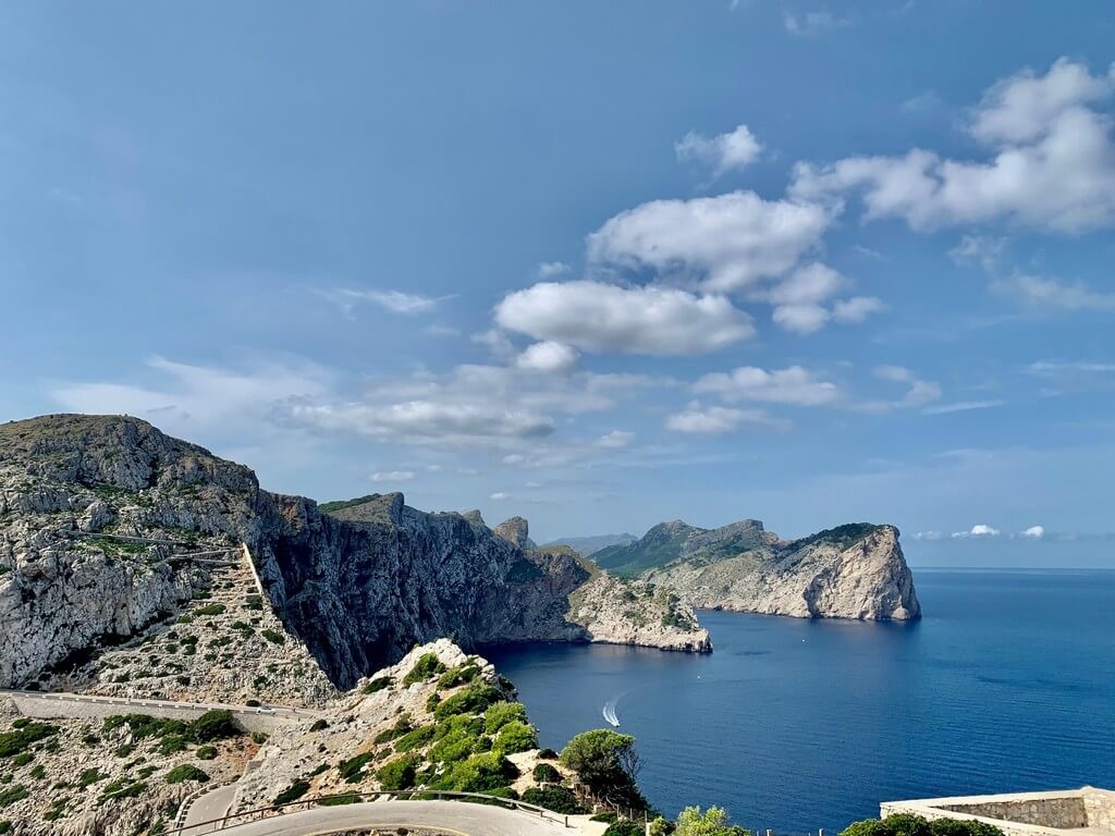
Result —
<path fill-rule="evenodd" d="M 789 194 L 841 205 L 862 194 L 866 215 L 901 217 L 915 230 L 1006 221 L 1077 233 L 1115 221 L 1112 118 L 1094 105 L 1115 91 L 1115 72 L 1093 76 L 1061 58 L 1045 76 L 1019 72 L 995 85 L 968 133 L 983 161 L 914 148 L 904 156 L 798 164 Z"/>

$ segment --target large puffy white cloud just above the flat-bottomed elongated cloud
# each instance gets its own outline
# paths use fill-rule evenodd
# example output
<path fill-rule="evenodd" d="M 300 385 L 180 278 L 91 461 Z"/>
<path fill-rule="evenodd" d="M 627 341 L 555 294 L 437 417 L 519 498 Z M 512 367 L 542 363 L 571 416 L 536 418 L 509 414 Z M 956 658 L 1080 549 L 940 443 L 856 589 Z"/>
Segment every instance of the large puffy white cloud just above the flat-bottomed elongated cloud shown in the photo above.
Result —
<path fill-rule="evenodd" d="M 831 223 L 818 205 L 765 201 L 754 192 L 651 201 L 589 235 L 589 257 L 734 291 L 787 272 Z"/>

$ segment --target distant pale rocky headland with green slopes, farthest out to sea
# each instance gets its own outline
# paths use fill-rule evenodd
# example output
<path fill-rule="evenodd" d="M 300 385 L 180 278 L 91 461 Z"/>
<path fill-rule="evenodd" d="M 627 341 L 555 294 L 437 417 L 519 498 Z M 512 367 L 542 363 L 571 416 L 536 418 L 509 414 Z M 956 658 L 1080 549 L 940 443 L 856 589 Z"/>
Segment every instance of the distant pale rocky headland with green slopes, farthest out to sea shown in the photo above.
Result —
<path fill-rule="evenodd" d="M 783 541 L 755 519 L 702 529 L 667 523 L 604 565 L 673 589 L 700 609 L 799 618 L 921 618 L 913 576 L 891 525 L 853 524 Z"/>

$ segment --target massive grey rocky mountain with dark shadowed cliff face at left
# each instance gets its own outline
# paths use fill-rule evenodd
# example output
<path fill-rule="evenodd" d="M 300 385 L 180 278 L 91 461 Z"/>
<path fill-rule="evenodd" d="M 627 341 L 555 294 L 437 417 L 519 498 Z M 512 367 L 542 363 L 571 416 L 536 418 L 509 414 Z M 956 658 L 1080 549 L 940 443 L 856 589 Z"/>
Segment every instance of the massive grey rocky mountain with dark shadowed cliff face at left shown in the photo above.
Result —
<path fill-rule="evenodd" d="M 184 555 L 240 543 L 263 605 L 341 687 L 442 636 L 594 639 L 568 615 L 590 572 L 521 548 L 525 524 L 500 536 L 478 514 L 425 514 L 398 494 L 341 505 L 261 490 L 246 467 L 134 418 L 0 425 L 0 686 L 177 618 L 224 583 Z"/>

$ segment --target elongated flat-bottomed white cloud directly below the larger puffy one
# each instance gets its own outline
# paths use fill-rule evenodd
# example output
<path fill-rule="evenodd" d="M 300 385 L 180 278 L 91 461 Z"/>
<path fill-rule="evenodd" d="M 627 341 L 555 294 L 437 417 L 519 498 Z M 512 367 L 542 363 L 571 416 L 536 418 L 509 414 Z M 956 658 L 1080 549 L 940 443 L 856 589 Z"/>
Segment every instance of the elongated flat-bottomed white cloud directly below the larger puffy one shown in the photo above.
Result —
<path fill-rule="evenodd" d="M 620 288 L 594 281 L 541 282 L 495 309 L 503 328 L 585 351 L 698 354 L 754 334 L 727 298 L 671 288 Z"/>

